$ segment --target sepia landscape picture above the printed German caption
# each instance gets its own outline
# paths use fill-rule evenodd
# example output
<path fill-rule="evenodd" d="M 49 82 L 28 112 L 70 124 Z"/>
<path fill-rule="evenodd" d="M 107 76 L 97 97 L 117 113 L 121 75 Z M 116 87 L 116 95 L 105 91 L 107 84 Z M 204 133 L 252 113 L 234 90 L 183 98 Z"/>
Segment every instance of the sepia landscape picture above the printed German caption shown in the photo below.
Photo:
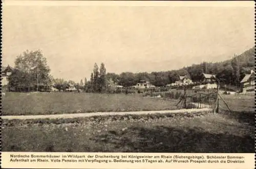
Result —
<path fill-rule="evenodd" d="M 254 2 L 72 2 L 3 2 L 3 152 L 254 153 Z"/>

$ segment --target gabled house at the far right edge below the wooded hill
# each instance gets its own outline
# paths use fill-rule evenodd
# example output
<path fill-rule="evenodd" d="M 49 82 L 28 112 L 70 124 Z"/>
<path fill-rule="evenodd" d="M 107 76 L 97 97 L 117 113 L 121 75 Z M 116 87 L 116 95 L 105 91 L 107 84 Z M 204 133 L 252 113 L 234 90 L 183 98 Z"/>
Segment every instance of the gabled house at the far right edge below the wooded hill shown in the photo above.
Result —
<path fill-rule="evenodd" d="M 250 74 L 246 74 L 242 79 L 241 86 L 243 88 L 243 92 L 252 92 L 255 89 L 255 71 L 251 70 Z"/>

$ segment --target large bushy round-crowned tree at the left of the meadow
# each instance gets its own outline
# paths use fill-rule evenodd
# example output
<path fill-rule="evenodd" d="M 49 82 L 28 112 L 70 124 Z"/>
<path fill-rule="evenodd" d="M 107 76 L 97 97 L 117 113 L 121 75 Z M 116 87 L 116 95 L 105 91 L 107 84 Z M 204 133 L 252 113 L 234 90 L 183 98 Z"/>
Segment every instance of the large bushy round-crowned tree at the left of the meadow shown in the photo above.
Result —
<path fill-rule="evenodd" d="M 15 59 L 15 74 L 9 77 L 23 77 L 19 83 L 11 83 L 11 85 L 24 86 L 28 91 L 38 90 L 39 88 L 48 88 L 52 81 L 50 76 L 50 68 L 47 65 L 47 59 L 42 55 L 40 50 L 25 51 Z M 10 86 L 17 87 L 17 86 Z"/>

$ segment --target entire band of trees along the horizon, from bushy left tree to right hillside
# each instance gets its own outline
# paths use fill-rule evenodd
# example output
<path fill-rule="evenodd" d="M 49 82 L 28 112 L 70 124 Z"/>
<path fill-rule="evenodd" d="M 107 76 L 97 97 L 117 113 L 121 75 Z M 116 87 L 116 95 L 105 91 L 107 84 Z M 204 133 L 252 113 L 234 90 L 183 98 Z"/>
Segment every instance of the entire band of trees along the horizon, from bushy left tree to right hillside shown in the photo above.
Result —
<path fill-rule="evenodd" d="M 47 65 L 47 60 L 42 52 L 40 50 L 27 50 L 17 56 L 12 75 L 9 77 L 8 88 L 14 91 L 41 91 L 48 90 L 53 85 L 58 90 L 65 90 L 72 85 L 88 92 L 104 92 L 108 89 L 110 79 L 124 87 L 136 85 L 140 80 L 149 81 L 155 86 L 166 86 L 179 80 L 179 76 L 187 76 L 193 81 L 200 81 L 202 73 L 214 74 L 222 84 L 239 87 L 245 74 L 249 73 L 250 69 L 254 69 L 254 53 L 255 48 L 252 47 L 243 54 L 234 55 L 232 59 L 223 62 L 203 62 L 177 70 L 154 71 L 152 73 L 106 73 L 104 63 L 100 64 L 100 68 L 95 63 L 90 80 L 87 81 L 84 78 L 84 80 L 81 79 L 80 83 L 75 83 L 71 80 L 54 79 L 50 75 L 50 67 Z"/>

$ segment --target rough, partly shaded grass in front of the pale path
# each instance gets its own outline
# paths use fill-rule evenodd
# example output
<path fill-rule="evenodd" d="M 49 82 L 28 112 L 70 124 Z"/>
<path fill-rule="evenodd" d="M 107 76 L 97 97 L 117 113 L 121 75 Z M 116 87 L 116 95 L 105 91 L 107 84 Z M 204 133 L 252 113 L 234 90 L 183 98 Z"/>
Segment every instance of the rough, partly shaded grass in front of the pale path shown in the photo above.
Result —
<path fill-rule="evenodd" d="M 25 152 L 253 153 L 253 131 L 248 122 L 212 113 L 6 120 L 2 146 Z"/>

